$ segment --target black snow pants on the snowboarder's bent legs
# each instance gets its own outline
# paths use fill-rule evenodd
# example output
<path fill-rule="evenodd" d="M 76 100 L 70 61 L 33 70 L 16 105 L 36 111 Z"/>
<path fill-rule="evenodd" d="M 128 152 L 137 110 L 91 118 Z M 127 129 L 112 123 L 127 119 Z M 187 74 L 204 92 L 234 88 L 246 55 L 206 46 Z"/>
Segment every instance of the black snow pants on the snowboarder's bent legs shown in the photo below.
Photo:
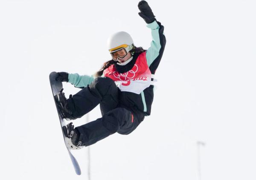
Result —
<path fill-rule="evenodd" d="M 68 107 L 76 118 L 80 118 L 100 104 L 102 118 L 76 127 L 78 141 L 82 142 L 82 146 L 90 146 L 115 132 L 128 135 L 143 121 L 144 113 L 131 110 L 125 103 L 120 102 L 120 93 L 112 79 L 98 77 L 67 99 Z"/>

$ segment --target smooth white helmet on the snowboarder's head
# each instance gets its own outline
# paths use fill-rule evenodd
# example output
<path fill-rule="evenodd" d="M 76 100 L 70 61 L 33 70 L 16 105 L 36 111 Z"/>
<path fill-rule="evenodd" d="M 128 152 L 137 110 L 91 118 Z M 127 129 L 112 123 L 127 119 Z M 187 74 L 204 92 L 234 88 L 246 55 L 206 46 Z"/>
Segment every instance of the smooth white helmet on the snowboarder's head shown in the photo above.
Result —
<path fill-rule="evenodd" d="M 130 34 L 128 34 L 125 31 L 120 31 L 115 34 L 112 34 L 108 38 L 107 47 L 108 47 L 108 51 L 111 53 L 111 56 L 113 57 L 112 53 L 119 51 L 121 49 L 125 50 L 127 54 L 129 51 L 131 51 L 134 48 L 134 42 Z"/>

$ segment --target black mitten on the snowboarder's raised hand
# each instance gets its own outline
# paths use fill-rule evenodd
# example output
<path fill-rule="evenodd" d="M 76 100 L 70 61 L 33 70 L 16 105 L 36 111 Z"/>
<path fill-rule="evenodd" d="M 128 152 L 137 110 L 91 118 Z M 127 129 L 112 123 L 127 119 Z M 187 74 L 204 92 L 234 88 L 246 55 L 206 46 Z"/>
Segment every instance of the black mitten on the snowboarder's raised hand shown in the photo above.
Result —
<path fill-rule="evenodd" d="M 156 20 L 151 8 L 148 6 L 148 3 L 145 0 L 140 1 L 138 8 L 140 9 L 140 17 L 142 17 L 147 24 L 153 23 L 154 20 Z"/>

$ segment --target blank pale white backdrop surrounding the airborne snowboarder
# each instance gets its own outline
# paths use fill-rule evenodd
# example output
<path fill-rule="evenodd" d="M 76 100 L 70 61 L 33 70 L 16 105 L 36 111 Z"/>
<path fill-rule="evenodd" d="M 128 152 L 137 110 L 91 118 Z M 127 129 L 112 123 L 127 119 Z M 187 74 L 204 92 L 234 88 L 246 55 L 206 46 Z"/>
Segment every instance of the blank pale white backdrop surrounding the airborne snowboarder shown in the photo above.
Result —
<path fill-rule="evenodd" d="M 127 31 L 148 48 L 138 0 L 0 0 L 0 179 L 87 180 L 65 148 L 49 73 L 91 75 Z M 256 1 L 148 0 L 165 27 L 152 114 L 90 146 L 91 180 L 256 179 Z M 80 89 L 64 84 L 68 96 Z M 99 107 L 90 121 L 101 117 Z M 85 116 L 76 120 L 84 124 Z"/>

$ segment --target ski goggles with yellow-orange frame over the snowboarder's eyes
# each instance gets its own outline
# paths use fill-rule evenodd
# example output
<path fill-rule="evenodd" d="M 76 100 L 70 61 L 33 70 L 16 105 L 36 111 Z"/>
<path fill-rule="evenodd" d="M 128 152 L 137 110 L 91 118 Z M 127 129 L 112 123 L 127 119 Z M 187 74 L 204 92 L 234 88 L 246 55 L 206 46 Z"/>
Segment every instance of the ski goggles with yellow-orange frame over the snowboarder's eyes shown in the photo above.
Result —
<path fill-rule="evenodd" d="M 120 59 L 124 58 L 128 54 L 128 52 L 132 50 L 132 48 L 133 48 L 132 45 L 120 45 L 120 46 L 118 46 L 114 49 L 111 49 L 109 51 L 112 56 L 112 59 L 114 61 L 117 61 L 118 58 L 120 58 Z"/>

